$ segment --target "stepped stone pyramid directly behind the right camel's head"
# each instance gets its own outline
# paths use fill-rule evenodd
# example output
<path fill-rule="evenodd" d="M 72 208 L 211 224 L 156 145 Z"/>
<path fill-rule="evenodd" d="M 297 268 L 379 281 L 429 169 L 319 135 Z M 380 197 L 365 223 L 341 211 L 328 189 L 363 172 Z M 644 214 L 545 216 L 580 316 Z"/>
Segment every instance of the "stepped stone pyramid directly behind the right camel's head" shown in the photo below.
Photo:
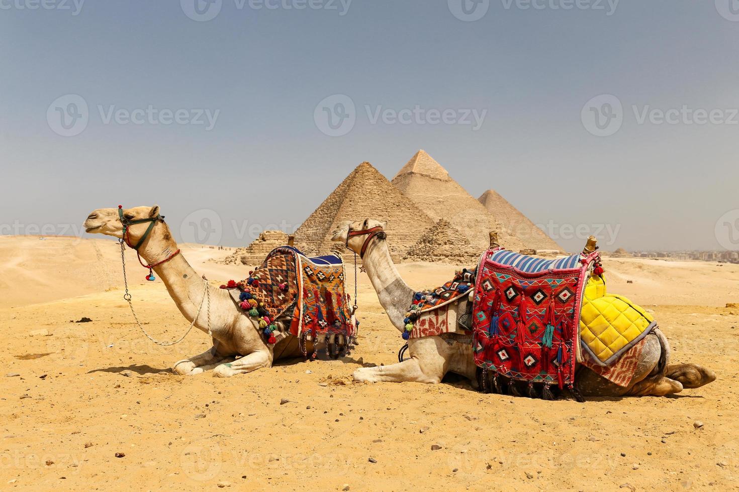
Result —
<path fill-rule="evenodd" d="M 434 221 L 387 181 L 369 162 L 363 162 L 296 230 L 296 246 L 307 254 L 326 254 L 335 243 L 333 230 L 343 221 L 373 218 L 387 221 L 385 232 L 393 260 L 401 260 Z"/>

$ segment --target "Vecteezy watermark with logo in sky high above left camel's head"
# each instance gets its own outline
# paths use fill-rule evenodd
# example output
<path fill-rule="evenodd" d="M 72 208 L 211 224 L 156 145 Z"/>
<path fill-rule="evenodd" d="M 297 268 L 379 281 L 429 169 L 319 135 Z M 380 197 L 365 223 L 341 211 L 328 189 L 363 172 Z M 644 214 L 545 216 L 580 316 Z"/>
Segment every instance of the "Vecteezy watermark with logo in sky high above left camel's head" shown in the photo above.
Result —
<path fill-rule="evenodd" d="M 96 105 L 103 125 L 194 125 L 205 126 L 211 131 L 221 110 L 208 108 L 119 108 L 115 104 Z M 89 123 L 90 111 L 84 97 L 65 94 L 55 99 L 47 108 L 47 122 L 55 134 L 75 136 L 81 134 Z"/>

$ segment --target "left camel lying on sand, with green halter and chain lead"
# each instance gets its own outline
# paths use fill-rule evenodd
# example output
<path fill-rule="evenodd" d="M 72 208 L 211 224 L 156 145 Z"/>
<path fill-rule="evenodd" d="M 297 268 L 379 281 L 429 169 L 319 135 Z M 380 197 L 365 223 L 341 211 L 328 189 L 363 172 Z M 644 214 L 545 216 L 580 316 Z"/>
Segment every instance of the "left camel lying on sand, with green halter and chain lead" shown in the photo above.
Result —
<path fill-rule="evenodd" d="M 126 222 L 134 223 L 128 227 L 127 243 L 136 246 L 140 257 L 153 266 L 185 319 L 202 332 L 210 333 L 213 339 L 210 349 L 177 361 L 172 367 L 174 373 L 195 375 L 213 369 L 214 376 L 228 378 L 272 367 L 273 361 L 279 358 L 302 356 L 295 336 L 287 336 L 274 345 L 265 342 L 256 320 L 244 315 L 228 291 L 209 285 L 205 277 L 201 278 L 194 271 L 183 254 L 178 254 L 177 243 L 160 216 L 158 205 L 123 209 L 122 213 Z M 123 240 L 118 209 L 93 211 L 84 227 L 86 232 Z M 275 323 L 282 328 L 289 325 L 287 320 L 281 319 L 276 319 Z"/>

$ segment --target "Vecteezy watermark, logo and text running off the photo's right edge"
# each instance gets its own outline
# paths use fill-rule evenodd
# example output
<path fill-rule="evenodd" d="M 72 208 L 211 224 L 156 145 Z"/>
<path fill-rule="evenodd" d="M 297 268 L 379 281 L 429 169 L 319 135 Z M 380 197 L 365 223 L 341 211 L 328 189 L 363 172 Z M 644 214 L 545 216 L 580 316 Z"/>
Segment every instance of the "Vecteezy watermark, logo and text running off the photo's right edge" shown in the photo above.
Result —
<path fill-rule="evenodd" d="M 739 125 L 738 108 L 675 108 L 631 105 L 637 125 Z M 624 108 L 613 94 L 593 97 L 582 107 L 580 118 L 587 131 L 596 136 L 611 136 L 624 124 Z"/>

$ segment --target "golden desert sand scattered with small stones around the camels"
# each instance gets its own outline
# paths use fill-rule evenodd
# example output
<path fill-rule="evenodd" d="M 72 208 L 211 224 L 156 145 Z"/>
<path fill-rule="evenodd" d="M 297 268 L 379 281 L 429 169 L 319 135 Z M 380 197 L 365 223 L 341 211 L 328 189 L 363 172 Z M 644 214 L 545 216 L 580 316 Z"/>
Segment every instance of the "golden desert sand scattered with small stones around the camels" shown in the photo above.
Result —
<path fill-rule="evenodd" d="M 228 251 L 183 252 L 211 280 L 246 276 L 211 261 Z M 135 254 L 127 260 L 146 328 L 176 338 L 188 323 L 160 281 L 145 283 Z M 605 267 L 611 291 L 654 311 L 672 361 L 710 367 L 717 381 L 672 398 L 586 403 L 482 395 L 456 378 L 355 384 L 353 370 L 391 364 L 401 347 L 364 275 L 351 356 L 177 376 L 174 361 L 207 349 L 207 337 L 146 341 L 122 299 L 115 241 L 1 237 L 0 490 L 737 488 L 739 308 L 724 306 L 739 302 L 739 266 Z M 421 288 L 454 268 L 399 270 Z M 92 322 L 71 322 L 83 316 Z"/>

